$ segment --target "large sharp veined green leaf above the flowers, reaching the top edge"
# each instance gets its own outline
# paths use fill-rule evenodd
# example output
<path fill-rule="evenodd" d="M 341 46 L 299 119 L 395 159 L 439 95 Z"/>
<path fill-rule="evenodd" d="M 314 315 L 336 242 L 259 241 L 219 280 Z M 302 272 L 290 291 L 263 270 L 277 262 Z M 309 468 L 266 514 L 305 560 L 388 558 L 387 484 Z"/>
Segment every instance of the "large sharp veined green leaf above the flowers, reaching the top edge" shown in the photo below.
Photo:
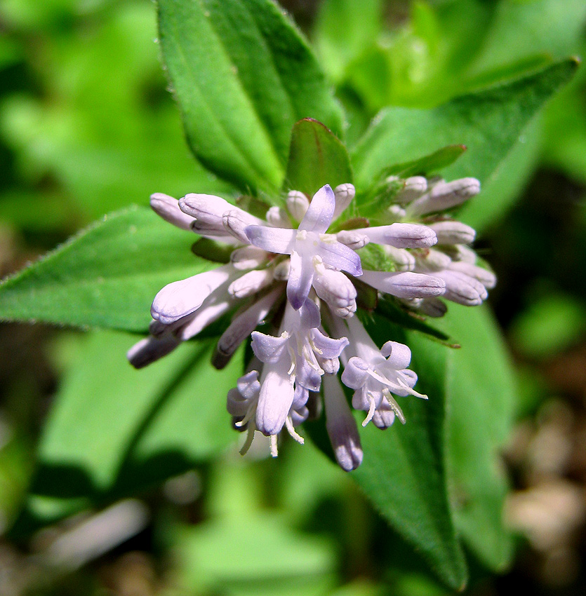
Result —
<path fill-rule="evenodd" d="M 159 29 L 194 155 L 241 189 L 280 189 L 301 118 L 340 132 L 323 72 L 271 1 L 159 0 Z"/>

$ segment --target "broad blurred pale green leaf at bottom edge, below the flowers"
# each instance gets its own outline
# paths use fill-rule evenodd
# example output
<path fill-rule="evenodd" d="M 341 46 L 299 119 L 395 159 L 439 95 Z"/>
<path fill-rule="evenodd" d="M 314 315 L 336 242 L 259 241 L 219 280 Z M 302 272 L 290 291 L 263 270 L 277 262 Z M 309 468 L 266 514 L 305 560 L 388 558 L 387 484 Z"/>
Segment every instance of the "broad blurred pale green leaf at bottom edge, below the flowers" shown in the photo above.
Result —
<path fill-rule="evenodd" d="M 328 594 L 335 582 L 332 546 L 288 527 L 276 513 L 248 513 L 178 528 L 180 587 L 229 596 Z"/>

